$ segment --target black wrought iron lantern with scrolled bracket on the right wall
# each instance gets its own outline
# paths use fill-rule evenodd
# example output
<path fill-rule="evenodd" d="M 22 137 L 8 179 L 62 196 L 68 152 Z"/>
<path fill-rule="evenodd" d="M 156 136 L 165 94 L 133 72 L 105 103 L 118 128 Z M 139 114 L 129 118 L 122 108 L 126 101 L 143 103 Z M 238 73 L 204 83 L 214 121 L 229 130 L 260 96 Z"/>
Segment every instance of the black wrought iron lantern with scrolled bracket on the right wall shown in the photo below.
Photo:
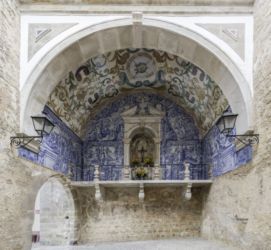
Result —
<path fill-rule="evenodd" d="M 236 117 L 238 114 L 229 113 L 228 110 L 223 112 L 223 115 L 216 122 L 216 126 L 218 127 L 221 134 L 229 138 L 230 142 L 234 142 L 235 138 L 238 139 L 243 144 L 253 147 L 259 143 L 259 134 L 245 134 L 245 135 L 230 135 L 229 133 L 232 131 L 235 125 Z M 242 137 L 239 139 L 239 137 Z"/>

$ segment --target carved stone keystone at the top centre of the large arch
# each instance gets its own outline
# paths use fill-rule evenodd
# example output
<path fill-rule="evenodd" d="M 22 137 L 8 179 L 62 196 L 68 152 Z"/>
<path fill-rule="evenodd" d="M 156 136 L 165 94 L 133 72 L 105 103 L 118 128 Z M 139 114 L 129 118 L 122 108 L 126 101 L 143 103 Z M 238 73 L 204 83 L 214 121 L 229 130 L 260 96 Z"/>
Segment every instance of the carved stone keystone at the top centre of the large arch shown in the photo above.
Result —
<path fill-rule="evenodd" d="M 133 48 L 142 48 L 142 12 L 132 12 Z"/>

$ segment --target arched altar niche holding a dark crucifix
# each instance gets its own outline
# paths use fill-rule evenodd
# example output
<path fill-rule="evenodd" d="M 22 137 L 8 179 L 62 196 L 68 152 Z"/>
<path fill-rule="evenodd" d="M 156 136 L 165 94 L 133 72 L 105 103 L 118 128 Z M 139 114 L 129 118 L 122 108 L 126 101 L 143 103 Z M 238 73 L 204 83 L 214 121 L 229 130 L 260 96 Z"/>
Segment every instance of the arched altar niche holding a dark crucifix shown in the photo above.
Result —
<path fill-rule="evenodd" d="M 154 156 L 154 140 L 148 133 L 138 133 L 132 140 L 130 145 L 130 162 L 133 158 L 138 158 L 140 164 L 145 164 L 148 156 Z"/>

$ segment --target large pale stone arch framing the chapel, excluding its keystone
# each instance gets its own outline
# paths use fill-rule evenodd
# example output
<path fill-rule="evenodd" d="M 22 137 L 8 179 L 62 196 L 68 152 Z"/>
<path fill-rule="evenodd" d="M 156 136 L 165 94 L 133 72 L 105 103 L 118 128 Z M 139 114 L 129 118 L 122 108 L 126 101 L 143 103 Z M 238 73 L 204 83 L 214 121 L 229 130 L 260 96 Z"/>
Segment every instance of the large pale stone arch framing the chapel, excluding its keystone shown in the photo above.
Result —
<path fill-rule="evenodd" d="M 21 91 L 20 130 L 28 135 L 35 133 L 29 117 L 43 110 L 51 91 L 71 69 L 101 53 L 131 48 L 132 39 L 121 39 L 123 34 L 133 37 L 131 17 L 79 30 L 41 58 Z M 110 39 L 104 39 L 105 37 Z M 218 45 L 181 25 L 154 17 L 143 17 L 142 47 L 172 53 L 205 70 L 222 89 L 232 111 L 239 114 L 236 132 L 249 130 L 252 101 L 249 84 L 235 62 Z M 81 56 L 75 60 L 67 57 L 70 53 Z"/>

